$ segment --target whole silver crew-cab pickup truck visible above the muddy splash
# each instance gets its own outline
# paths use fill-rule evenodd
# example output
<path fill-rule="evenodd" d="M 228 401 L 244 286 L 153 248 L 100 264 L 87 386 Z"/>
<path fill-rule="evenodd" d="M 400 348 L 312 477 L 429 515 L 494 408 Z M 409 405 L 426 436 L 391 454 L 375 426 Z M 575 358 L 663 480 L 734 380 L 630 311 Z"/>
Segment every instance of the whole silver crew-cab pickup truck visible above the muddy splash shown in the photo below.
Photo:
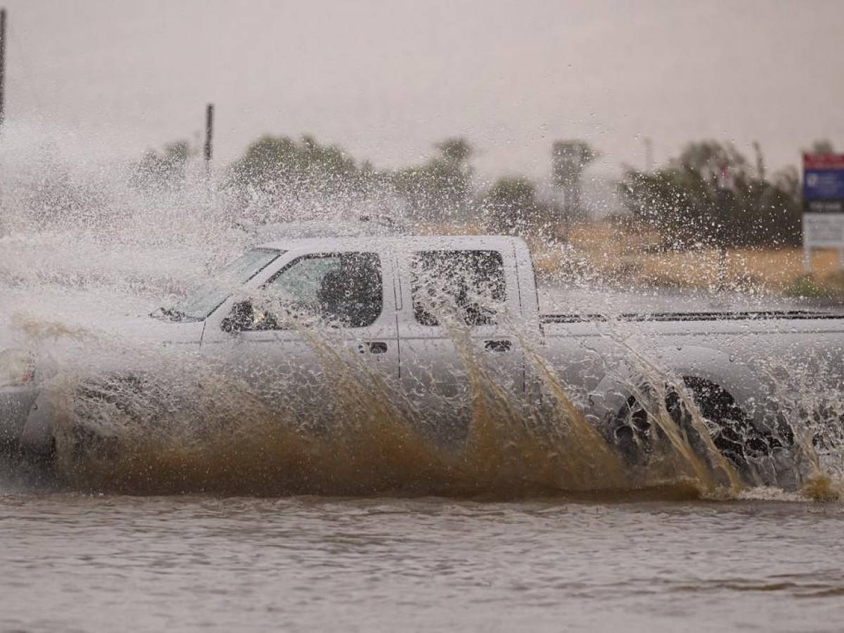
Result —
<path fill-rule="evenodd" d="M 537 425 L 565 399 L 631 463 L 681 442 L 758 483 L 750 462 L 811 450 L 841 416 L 841 318 L 541 314 L 530 252 L 511 237 L 272 242 L 150 317 L 144 337 L 225 367 L 269 405 L 321 419 L 343 367 L 437 441 L 466 436 L 483 383 Z M 48 454 L 37 367 L 3 354 L 0 437 Z"/>

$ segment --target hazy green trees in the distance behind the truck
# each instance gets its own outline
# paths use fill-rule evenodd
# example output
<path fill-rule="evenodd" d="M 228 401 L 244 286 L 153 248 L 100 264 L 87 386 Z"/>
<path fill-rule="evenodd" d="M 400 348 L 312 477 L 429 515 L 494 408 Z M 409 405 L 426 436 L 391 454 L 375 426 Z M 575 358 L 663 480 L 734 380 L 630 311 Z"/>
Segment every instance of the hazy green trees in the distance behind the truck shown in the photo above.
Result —
<path fill-rule="evenodd" d="M 588 219 L 583 200 L 584 171 L 599 157 L 582 140 L 552 144 L 553 187 L 525 176 L 502 176 L 484 186 L 473 177 L 474 149 L 466 138 L 446 138 L 420 165 L 376 170 L 333 145 L 311 136 L 264 136 L 225 170 L 220 187 L 235 219 L 272 221 L 291 201 L 365 201 L 387 197 L 414 222 L 482 222 L 511 235 L 565 235 L 567 227 Z M 765 173 L 755 145 L 755 165 L 731 143 L 688 144 L 659 170 L 626 168 L 618 182 L 623 221 L 632 230 L 659 235 L 664 247 L 786 246 L 801 235 L 800 183 L 793 168 Z M 831 151 L 827 142 L 815 151 Z M 149 152 L 133 170 L 137 187 L 174 188 L 186 181 L 188 143 Z M 618 218 L 617 218 L 618 219 Z"/>

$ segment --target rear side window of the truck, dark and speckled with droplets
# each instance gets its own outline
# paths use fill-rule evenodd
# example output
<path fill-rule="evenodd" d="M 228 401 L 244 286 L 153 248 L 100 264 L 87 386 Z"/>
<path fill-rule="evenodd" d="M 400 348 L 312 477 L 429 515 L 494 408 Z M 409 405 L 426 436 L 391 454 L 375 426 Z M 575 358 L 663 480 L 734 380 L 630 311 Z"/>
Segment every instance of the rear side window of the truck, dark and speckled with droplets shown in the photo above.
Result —
<path fill-rule="evenodd" d="M 506 300 L 504 262 L 497 251 L 421 251 L 410 263 L 414 317 L 439 325 L 451 314 L 469 327 L 495 325 Z"/>

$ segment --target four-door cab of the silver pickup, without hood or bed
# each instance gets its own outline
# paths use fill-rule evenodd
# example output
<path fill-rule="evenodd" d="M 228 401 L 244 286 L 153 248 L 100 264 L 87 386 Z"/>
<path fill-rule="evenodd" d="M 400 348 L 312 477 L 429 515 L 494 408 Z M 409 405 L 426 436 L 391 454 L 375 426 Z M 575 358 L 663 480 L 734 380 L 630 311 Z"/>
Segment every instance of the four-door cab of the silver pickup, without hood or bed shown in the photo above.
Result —
<path fill-rule="evenodd" d="M 357 381 L 349 388 L 382 390 L 403 414 L 440 420 L 437 435 L 459 436 L 471 380 L 525 392 L 522 339 L 528 324 L 538 328 L 538 305 L 520 240 L 304 239 L 247 256 L 254 273 L 205 316 L 202 353 L 274 406 L 313 411 L 345 377 Z M 198 303 L 173 314 L 203 317 L 186 314 Z"/>

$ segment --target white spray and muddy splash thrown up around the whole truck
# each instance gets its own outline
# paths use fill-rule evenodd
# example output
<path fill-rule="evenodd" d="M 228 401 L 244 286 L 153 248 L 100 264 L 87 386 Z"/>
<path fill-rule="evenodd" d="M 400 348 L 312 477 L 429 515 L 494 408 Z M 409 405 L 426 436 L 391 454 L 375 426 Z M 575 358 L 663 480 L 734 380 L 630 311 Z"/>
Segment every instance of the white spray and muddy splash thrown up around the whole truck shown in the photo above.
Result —
<path fill-rule="evenodd" d="M 13 128 L 0 150 L 0 348 L 33 349 L 46 369 L 54 412 L 57 473 L 81 490 L 169 493 L 208 490 L 277 495 L 747 495 L 742 474 L 713 444 L 682 379 L 647 350 L 626 344 L 647 385 L 630 384 L 667 438 L 647 463 L 631 465 L 585 418 L 576 393 L 521 340 L 543 407 L 526 406 L 488 371 L 468 334 L 450 328 L 471 402 L 466 436 L 438 441 L 431 419 L 390 380 L 371 371 L 330 328 L 300 330 L 322 383 L 322 406 L 285 391 L 269 404 L 224 365 L 186 349 L 110 332 L 112 322 L 169 305 L 247 246 L 268 239 L 229 217 L 230 201 L 203 174 L 150 193 L 125 168 L 104 168 L 33 142 L 41 130 Z M 383 200 L 389 198 L 385 193 Z M 357 202 L 311 200 L 311 217 L 369 213 Z M 295 209 L 302 211 L 301 204 Z M 377 206 L 377 205 L 376 205 Z M 289 209 L 284 217 L 289 219 Z M 272 209 L 263 209 L 264 219 Z M 278 225 L 279 235 L 289 226 Z M 517 324 L 510 324 L 518 336 Z M 619 326 L 620 328 L 621 326 Z M 610 336 L 612 336 L 612 332 Z M 619 340 L 628 340 L 619 335 Z M 260 368 L 254 371 L 268 371 Z M 793 429 L 800 481 L 813 499 L 836 498 L 840 442 L 816 412 L 840 418 L 841 394 L 812 372 L 771 366 L 782 413 Z M 798 391 L 791 389 L 798 383 Z M 679 387 L 678 387 L 679 386 Z M 678 425 L 666 402 L 687 414 Z M 816 402 L 817 401 L 817 402 Z M 813 413 L 814 412 L 814 413 Z M 813 417 L 814 416 L 814 417 Z M 825 443 L 825 460 L 815 451 Z M 799 470 L 799 468 L 798 468 Z"/>

